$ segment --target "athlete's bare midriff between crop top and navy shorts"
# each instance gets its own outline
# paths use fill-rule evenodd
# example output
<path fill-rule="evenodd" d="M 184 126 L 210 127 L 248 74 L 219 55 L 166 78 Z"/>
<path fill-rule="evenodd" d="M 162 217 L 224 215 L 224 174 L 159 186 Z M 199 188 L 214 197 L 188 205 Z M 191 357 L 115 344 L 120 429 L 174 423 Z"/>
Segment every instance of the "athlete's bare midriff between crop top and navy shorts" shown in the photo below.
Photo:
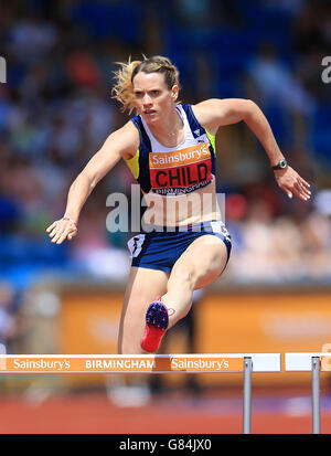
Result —
<path fill-rule="evenodd" d="M 215 180 L 183 195 L 163 197 L 151 192 L 145 193 L 145 204 L 147 210 L 142 220 L 146 224 L 185 226 L 209 220 L 222 220 Z"/>

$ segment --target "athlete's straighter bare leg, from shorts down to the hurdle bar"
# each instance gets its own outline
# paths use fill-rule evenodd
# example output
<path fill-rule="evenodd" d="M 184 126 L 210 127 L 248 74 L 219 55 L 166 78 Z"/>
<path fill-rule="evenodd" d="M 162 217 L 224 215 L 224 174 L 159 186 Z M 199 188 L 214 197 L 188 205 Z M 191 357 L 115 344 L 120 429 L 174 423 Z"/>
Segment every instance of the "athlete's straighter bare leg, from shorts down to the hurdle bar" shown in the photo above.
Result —
<path fill-rule="evenodd" d="M 119 324 L 119 353 L 142 353 L 140 338 L 147 307 L 166 293 L 168 278 L 163 271 L 131 267 Z"/>

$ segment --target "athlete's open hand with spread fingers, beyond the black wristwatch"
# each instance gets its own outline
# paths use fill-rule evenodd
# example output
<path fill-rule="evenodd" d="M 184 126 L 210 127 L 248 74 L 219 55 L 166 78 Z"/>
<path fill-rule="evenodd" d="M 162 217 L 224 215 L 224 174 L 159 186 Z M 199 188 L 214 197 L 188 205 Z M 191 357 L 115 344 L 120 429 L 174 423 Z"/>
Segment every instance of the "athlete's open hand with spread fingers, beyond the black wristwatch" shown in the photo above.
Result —
<path fill-rule="evenodd" d="M 295 194 L 302 201 L 308 201 L 310 199 L 310 184 L 291 167 L 287 166 L 285 169 L 275 170 L 274 173 L 278 185 L 285 191 L 288 198 L 292 198 Z"/>

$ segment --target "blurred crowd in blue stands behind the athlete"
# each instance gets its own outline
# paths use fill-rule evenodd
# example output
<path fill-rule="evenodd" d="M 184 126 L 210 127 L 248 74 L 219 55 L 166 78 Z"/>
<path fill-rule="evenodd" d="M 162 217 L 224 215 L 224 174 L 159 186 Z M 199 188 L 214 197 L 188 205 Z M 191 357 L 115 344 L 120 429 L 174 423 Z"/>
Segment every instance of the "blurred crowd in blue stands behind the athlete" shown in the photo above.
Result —
<path fill-rule="evenodd" d="M 107 195 L 130 195 L 125 163 L 95 189 L 71 244 L 46 226 L 72 180 L 127 117 L 111 98 L 116 62 L 168 55 L 188 103 L 249 97 L 264 110 L 310 202 L 277 188 L 247 127 L 223 128 L 218 192 L 234 240 L 229 283 L 331 279 L 331 6 L 317 0 L 12 0 L 1 6 L 0 268 L 15 287 L 41 274 L 125 278 L 129 233 L 106 230 Z"/>

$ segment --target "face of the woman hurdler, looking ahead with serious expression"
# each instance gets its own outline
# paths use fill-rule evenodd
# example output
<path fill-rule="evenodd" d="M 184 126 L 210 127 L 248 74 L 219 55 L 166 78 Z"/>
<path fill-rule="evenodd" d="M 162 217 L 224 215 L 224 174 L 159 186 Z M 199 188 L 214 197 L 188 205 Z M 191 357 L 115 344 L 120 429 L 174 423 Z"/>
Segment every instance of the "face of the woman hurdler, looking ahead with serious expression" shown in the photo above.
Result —
<path fill-rule="evenodd" d="M 135 105 L 147 123 L 156 123 L 174 108 L 179 87 L 169 89 L 162 73 L 138 73 L 134 78 Z"/>

